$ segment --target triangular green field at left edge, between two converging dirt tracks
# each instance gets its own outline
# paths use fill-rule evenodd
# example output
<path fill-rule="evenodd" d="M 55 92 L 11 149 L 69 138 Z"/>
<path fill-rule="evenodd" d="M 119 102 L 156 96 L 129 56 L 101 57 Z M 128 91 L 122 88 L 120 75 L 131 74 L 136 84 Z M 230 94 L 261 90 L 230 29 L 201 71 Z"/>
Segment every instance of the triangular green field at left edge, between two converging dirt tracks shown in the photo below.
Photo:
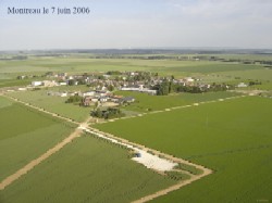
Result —
<path fill-rule="evenodd" d="M 73 126 L 0 97 L 0 180 L 64 139 Z"/>

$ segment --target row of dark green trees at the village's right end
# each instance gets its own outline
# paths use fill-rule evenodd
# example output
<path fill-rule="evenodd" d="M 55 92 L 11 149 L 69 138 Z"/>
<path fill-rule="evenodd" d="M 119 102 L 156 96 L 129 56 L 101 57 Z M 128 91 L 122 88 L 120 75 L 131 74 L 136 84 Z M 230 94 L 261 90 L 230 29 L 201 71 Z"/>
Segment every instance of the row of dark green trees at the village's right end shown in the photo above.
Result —
<path fill-rule="evenodd" d="M 208 91 L 226 91 L 233 89 L 230 85 L 212 84 L 208 88 L 207 86 L 184 86 L 182 84 L 174 84 L 173 81 L 164 80 L 162 84 L 153 87 L 158 91 L 158 96 L 168 96 L 172 92 L 189 92 L 189 93 L 202 93 Z"/>

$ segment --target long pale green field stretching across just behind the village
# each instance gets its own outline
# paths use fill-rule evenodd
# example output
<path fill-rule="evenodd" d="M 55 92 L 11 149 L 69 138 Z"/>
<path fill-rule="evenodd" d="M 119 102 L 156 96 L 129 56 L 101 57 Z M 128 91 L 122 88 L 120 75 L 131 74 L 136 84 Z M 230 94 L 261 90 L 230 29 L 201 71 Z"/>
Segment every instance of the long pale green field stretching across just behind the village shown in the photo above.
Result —
<path fill-rule="evenodd" d="M 45 72 L 151 71 L 162 73 L 217 73 L 226 71 L 263 69 L 262 65 L 212 61 L 126 60 L 81 58 L 29 58 L 21 61 L 0 61 L 0 74 Z"/>

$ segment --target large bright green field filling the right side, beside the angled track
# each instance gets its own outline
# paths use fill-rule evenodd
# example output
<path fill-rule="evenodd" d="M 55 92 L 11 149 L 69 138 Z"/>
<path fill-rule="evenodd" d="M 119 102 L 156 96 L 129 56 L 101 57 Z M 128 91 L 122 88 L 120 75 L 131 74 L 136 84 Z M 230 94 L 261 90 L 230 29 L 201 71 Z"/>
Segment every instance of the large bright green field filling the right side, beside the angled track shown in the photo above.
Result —
<path fill-rule="evenodd" d="M 96 127 L 214 170 L 153 202 L 258 202 L 272 199 L 271 120 L 271 99 L 246 97 Z"/>

